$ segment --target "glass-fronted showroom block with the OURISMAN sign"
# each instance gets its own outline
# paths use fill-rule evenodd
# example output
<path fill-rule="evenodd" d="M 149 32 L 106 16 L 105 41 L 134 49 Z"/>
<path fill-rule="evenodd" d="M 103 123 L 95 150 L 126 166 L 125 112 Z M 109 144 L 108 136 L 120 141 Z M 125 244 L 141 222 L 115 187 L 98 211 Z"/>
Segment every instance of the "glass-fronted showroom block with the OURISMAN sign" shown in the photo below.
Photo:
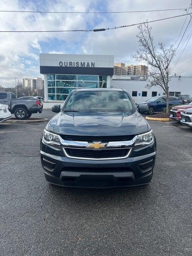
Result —
<path fill-rule="evenodd" d="M 113 55 L 40 54 L 45 102 L 64 101 L 76 88 L 110 88 Z"/>

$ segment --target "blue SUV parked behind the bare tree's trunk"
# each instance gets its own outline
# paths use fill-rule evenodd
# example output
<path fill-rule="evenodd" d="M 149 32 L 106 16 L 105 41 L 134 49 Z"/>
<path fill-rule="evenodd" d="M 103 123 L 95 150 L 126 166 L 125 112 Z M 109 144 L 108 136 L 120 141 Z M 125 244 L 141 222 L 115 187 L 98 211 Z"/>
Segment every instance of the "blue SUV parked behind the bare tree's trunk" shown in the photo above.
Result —
<path fill-rule="evenodd" d="M 180 105 L 182 104 L 182 100 L 177 97 L 169 97 L 169 106 L 172 105 Z M 138 103 L 139 108 L 141 108 L 141 105 L 147 105 L 148 106 L 148 114 L 153 115 L 154 112 L 163 111 L 164 108 L 166 108 L 166 98 L 164 96 L 156 96 L 152 97 L 145 102 Z"/>

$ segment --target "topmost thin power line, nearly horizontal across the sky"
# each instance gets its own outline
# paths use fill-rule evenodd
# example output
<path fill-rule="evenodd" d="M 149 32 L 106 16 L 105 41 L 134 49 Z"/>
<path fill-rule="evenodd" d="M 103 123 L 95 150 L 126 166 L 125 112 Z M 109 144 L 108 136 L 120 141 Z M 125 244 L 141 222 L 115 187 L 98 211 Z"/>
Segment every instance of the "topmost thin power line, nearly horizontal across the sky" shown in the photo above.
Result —
<path fill-rule="evenodd" d="M 0 12 L 33 12 L 33 13 L 84 13 L 84 14 L 107 14 L 107 13 L 131 13 L 131 12 L 162 12 L 162 11 L 173 11 L 173 10 L 182 10 L 186 11 L 188 8 L 176 8 L 176 9 L 163 9 L 163 10 L 147 10 L 147 11 L 125 11 L 125 12 L 46 12 L 46 11 L 8 11 L 8 10 L 0 10 Z"/>

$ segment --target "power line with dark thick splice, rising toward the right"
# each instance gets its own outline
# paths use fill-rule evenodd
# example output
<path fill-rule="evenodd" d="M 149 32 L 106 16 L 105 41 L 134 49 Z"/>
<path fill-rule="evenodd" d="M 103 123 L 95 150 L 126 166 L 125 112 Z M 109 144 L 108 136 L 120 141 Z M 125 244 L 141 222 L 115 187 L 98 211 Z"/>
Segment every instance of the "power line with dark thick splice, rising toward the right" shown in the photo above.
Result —
<path fill-rule="evenodd" d="M 97 28 L 97 29 L 82 29 L 82 30 L 32 30 L 32 31 L 28 31 L 28 30 L 26 30 L 26 31 L 0 30 L 0 32 L 90 32 L 90 31 L 99 32 L 99 31 L 105 31 L 105 30 L 112 30 L 112 29 L 118 29 L 118 28 L 126 28 L 126 27 L 131 27 L 131 26 L 137 26 L 137 25 L 156 22 L 156 21 L 160 21 L 160 20 L 168 20 L 168 19 L 182 17 L 182 16 L 186 16 L 186 15 L 190 15 L 190 14 L 189 13 L 188 14 L 182 14 L 182 15 L 172 16 L 172 17 L 168 17 L 168 18 L 163 18 L 163 19 L 158 19 L 158 20 L 151 20 L 151 21 L 140 22 L 140 23 L 124 25 L 124 26 L 116 26 L 116 27 L 112 27 L 112 28 Z"/>

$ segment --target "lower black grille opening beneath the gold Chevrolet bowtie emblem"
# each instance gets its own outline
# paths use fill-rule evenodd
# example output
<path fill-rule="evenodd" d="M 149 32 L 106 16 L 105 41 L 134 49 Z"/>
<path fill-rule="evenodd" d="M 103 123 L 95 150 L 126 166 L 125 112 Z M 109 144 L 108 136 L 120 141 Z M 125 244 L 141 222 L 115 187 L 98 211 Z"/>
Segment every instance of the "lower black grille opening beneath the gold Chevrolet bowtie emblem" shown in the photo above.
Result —
<path fill-rule="evenodd" d="M 116 158 L 126 156 L 130 151 L 130 148 L 102 150 L 92 150 L 85 148 L 65 148 L 65 151 L 69 156 L 74 156 L 78 158 Z"/>

